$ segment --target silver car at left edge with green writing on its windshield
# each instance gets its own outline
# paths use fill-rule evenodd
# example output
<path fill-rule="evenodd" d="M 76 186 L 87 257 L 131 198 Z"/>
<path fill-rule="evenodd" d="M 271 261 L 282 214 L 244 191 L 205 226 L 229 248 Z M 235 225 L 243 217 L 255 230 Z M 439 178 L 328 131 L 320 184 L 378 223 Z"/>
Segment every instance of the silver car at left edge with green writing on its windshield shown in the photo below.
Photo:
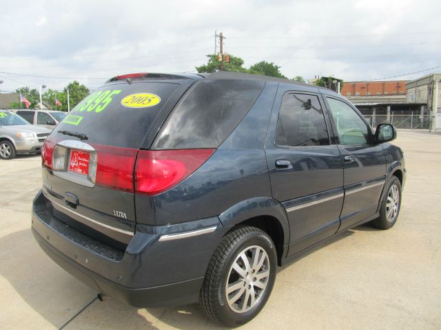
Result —
<path fill-rule="evenodd" d="M 50 129 L 29 124 L 17 113 L 0 111 L 0 159 L 17 153 L 40 153 Z"/>

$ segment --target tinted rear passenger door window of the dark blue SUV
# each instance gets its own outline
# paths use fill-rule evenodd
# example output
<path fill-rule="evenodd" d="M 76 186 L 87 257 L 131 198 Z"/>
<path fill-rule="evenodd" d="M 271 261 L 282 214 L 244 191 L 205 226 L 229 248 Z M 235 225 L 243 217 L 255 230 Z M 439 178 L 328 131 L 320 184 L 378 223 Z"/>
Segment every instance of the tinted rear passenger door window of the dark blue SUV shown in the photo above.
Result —
<path fill-rule="evenodd" d="M 278 115 L 278 146 L 325 146 L 329 136 L 317 96 L 287 94 Z"/>

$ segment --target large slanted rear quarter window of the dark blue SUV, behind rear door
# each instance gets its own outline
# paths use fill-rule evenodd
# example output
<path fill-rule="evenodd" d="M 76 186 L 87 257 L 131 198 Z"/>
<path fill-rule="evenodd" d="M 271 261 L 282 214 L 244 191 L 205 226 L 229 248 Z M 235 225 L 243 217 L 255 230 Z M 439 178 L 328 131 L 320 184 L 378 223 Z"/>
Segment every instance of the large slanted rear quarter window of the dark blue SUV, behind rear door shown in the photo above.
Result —
<path fill-rule="evenodd" d="M 153 148 L 217 148 L 259 96 L 261 80 L 203 79 L 170 113 Z"/>

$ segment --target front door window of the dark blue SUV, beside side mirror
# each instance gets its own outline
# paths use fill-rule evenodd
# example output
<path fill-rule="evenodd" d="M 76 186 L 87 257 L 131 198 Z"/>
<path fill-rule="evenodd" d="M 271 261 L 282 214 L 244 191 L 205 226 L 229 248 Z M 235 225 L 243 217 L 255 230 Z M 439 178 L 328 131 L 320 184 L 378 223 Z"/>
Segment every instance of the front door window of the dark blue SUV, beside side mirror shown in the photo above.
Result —
<path fill-rule="evenodd" d="M 340 144 L 367 144 L 370 129 L 360 115 L 348 104 L 327 98 L 329 110 L 337 127 Z"/>

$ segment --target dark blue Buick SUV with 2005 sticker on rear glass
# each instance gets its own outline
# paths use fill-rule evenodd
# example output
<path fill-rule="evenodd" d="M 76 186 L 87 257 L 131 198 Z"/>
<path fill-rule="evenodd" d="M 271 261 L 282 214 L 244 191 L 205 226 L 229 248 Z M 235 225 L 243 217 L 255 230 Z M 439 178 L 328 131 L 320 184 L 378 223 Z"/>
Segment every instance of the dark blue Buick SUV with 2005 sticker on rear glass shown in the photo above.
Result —
<path fill-rule="evenodd" d="M 116 76 L 46 139 L 32 230 L 100 298 L 198 301 L 234 327 L 263 308 L 277 265 L 361 223 L 393 226 L 406 178 L 395 137 L 290 80 Z"/>

